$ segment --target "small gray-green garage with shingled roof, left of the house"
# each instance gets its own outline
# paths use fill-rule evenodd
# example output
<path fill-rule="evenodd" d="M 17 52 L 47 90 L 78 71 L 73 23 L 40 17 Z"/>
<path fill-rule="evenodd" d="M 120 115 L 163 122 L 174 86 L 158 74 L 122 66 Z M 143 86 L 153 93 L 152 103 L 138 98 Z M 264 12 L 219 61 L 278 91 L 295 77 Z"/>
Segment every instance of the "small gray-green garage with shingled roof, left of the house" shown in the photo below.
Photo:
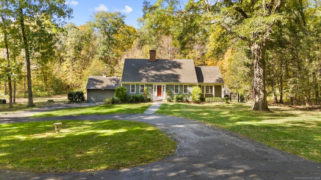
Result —
<path fill-rule="evenodd" d="M 87 101 L 103 102 L 104 99 L 115 94 L 115 89 L 119 86 L 119 82 L 119 76 L 89 76 L 86 87 Z"/>

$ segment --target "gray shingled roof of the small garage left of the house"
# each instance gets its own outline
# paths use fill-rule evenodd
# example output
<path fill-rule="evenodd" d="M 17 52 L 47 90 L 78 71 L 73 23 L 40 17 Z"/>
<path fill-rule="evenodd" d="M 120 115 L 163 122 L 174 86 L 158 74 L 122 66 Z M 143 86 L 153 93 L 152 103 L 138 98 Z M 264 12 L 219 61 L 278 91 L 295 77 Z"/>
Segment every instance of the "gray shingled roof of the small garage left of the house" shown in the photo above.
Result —
<path fill-rule="evenodd" d="M 86 89 L 115 89 L 119 86 L 119 76 L 90 75 Z"/>

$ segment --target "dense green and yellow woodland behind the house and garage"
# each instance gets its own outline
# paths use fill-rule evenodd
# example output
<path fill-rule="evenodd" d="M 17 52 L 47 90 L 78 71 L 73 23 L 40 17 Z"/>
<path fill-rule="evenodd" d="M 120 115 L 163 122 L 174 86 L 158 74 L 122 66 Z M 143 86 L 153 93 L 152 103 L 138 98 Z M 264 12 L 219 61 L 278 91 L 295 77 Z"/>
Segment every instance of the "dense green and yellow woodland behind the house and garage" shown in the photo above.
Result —
<path fill-rule="evenodd" d="M 85 90 L 89 75 L 104 68 L 121 75 L 124 58 L 148 58 L 155 49 L 157 58 L 219 65 L 232 91 L 254 97 L 253 109 L 268 109 L 267 100 L 319 104 L 320 0 L 144 1 L 137 29 L 119 12 L 96 12 L 80 26 L 64 24 L 71 9 L 61 0 L 50 0 L 55 8 L 44 10 L 44 0 L 27 0 L 28 7 L 19 6 L 22 0 L 0 1 L 0 81 L 8 89 L 12 82 L 19 96 L 27 91 L 27 42 L 37 95 Z M 33 5 L 35 13 L 27 14 Z"/>

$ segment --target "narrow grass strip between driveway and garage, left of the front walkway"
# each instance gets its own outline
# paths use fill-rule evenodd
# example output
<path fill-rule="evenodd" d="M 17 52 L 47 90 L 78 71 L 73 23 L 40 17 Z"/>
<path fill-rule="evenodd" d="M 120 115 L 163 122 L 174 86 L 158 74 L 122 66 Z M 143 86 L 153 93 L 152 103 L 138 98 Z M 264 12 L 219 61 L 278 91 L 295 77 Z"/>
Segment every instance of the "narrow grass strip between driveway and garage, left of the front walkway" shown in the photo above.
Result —
<path fill-rule="evenodd" d="M 115 113 L 143 113 L 152 102 L 142 103 L 119 103 L 108 105 L 95 105 L 86 107 L 72 107 L 66 109 L 40 112 L 32 117 L 49 117 L 64 115 L 91 115 L 91 114 L 115 114 Z"/>

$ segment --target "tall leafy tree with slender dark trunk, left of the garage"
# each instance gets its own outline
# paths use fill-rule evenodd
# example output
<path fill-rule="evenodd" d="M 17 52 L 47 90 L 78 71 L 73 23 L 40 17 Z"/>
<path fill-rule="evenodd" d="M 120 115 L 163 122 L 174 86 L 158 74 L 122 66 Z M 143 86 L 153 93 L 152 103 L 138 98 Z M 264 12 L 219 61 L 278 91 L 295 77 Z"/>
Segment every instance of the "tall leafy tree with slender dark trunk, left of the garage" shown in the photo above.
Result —
<path fill-rule="evenodd" d="M 52 31 L 64 23 L 62 19 L 71 17 L 72 9 L 65 4 L 64 0 L 11 0 L 7 8 L 11 9 L 11 18 L 16 19 L 13 25 L 20 29 L 27 65 L 27 106 L 31 107 L 34 106 L 31 59 L 39 53 L 33 49 L 41 47 L 44 44 L 43 40 L 52 39 Z M 51 31 L 47 31 L 48 29 Z M 46 54 L 46 52 L 42 54 Z"/>

